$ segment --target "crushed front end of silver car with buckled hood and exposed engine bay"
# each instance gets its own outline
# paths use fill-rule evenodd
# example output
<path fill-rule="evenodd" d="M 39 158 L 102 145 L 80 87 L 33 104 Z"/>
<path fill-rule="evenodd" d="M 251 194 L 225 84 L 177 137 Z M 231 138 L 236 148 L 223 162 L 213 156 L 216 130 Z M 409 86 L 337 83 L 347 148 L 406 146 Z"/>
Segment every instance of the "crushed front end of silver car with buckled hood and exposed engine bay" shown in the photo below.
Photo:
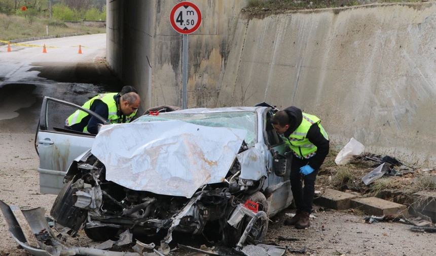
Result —
<path fill-rule="evenodd" d="M 168 143 L 167 135 L 162 138 L 138 135 L 135 138 L 142 139 L 123 144 L 127 145 L 124 147 L 107 139 L 143 131 L 150 125 L 158 126 L 153 131 L 164 131 L 162 126 L 172 125 L 178 127 L 179 132 L 173 132 L 171 143 Z M 185 129 L 195 131 L 195 137 L 189 136 Z M 224 133 L 226 139 L 221 136 L 210 138 L 210 134 L 217 132 Z M 56 228 L 63 234 L 75 235 L 83 226 L 93 240 L 114 239 L 120 232 L 130 230 L 143 238 L 162 237 L 167 243 L 171 242 L 173 232 L 208 234 L 212 236 L 207 237 L 210 240 L 228 241 L 234 245 L 243 230 L 239 230 L 236 238 L 229 240 L 225 236 L 238 229 L 242 218 L 232 223 L 233 226 L 228 220 L 235 215 L 232 213 L 237 205 L 245 203 L 248 195 L 263 187 L 266 178 L 266 171 L 258 172 L 258 176 L 245 174 L 246 177 L 240 178 L 247 168 L 256 164 L 257 170 L 265 169 L 263 162 L 253 162 L 262 157 L 253 155 L 257 151 L 248 148 L 244 137 L 242 130 L 224 129 L 223 132 L 222 128 L 180 121 L 132 124 L 130 129 L 126 125 L 108 126 L 100 131 L 92 150 L 71 164 L 64 180 L 66 185 L 51 210 Z M 184 145 L 184 148 L 180 150 L 174 145 Z M 159 148 L 159 154 L 156 148 Z M 118 154 L 114 155 L 116 149 Z M 167 169 L 170 157 L 172 162 L 179 163 L 177 169 Z M 198 164 L 198 161 L 203 163 Z M 192 165 L 194 162 L 196 167 Z M 127 167 L 123 163 L 128 163 Z M 132 169 L 133 166 L 142 167 L 142 171 Z M 159 177 L 166 175 L 166 179 L 150 180 L 144 173 L 151 176 L 159 173 Z M 259 203 L 260 210 L 267 208 L 266 199 Z"/>

